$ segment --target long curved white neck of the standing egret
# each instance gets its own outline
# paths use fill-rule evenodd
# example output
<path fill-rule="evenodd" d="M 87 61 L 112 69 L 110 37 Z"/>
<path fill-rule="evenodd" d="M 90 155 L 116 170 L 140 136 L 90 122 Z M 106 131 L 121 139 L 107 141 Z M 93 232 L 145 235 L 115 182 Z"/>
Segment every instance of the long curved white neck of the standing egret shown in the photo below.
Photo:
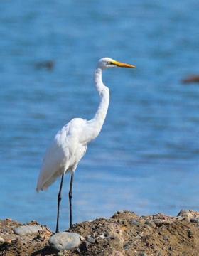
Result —
<path fill-rule="evenodd" d="M 95 117 L 89 121 L 90 123 L 90 140 L 95 139 L 102 129 L 104 120 L 107 116 L 109 107 L 109 88 L 102 82 L 102 69 L 95 70 L 95 86 L 101 99 Z"/>

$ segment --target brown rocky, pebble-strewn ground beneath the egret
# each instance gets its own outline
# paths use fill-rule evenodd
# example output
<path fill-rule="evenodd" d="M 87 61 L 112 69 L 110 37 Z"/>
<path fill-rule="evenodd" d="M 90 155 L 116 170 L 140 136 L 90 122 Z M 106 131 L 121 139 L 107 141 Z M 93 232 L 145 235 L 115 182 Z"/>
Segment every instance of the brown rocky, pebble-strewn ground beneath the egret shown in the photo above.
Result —
<path fill-rule="evenodd" d="M 117 212 L 109 219 L 73 225 L 68 230 L 68 242 L 61 238 L 68 233 L 55 238 L 47 227 L 36 222 L 17 228 L 21 225 L 10 219 L 0 221 L 0 256 L 199 255 L 199 213 L 192 210 L 182 210 L 177 217 L 163 214 L 139 217 L 129 211 Z M 80 236 L 75 234 L 72 240 L 71 233 Z"/>

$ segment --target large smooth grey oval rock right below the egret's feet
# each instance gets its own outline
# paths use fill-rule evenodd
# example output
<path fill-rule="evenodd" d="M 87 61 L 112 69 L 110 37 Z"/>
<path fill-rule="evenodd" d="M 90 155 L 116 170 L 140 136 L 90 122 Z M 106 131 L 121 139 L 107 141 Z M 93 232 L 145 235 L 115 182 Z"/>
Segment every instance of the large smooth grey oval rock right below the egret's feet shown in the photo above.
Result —
<path fill-rule="evenodd" d="M 60 232 L 52 235 L 48 242 L 55 250 L 72 250 L 80 245 L 81 238 L 77 233 Z"/>

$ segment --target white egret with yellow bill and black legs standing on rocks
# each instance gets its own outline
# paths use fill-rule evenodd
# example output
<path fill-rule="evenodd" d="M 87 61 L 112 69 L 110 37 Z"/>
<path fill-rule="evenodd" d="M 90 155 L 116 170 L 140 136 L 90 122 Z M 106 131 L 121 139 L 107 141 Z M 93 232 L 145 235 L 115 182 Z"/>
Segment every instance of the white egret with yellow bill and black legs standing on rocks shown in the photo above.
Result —
<path fill-rule="evenodd" d="M 87 121 L 74 118 L 55 135 L 53 143 L 47 150 L 43 159 L 43 166 L 38 176 L 36 191 L 47 189 L 58 177 L 61 176 L 58 193 L 58 212 L 56 233 L 58 233 L 61 191 L 63 177 L 71 173 L 69 203 L 70 203 L 70 228 L 72 227 L 72 183 L 77 164 L 87 150 L 87 144 L 95 139 L 102 129 L 104 119 L 109 107 L 109 88 L 102 82 L 102 71 L 106 68 L 136 68 L 134 65 L 120 63 L 112 58 L 101 58 L 95 70 L 95 86 L 99 93 L 100 103 L 93 119 Z"/>

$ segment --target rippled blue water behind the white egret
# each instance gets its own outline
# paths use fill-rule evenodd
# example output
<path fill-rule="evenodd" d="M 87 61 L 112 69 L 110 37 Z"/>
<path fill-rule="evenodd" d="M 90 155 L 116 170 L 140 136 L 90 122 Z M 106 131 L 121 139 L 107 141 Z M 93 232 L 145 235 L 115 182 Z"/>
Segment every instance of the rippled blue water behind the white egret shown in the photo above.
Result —
<path fill-rule="evenodd" d="M 59 181 L 36 193 L 45 149 L 73 117 L 90 119 L 97 60 L 137 66 L 104 73 L 111 101 L 75 173 L 74 222 L 199 210 L 198 0 L 1 1 L 0 218 L 55 228 Z M 37 68 L 53 60 L 52 70 Z M 68 227 L 65 177 L 60 225 Z"/>

